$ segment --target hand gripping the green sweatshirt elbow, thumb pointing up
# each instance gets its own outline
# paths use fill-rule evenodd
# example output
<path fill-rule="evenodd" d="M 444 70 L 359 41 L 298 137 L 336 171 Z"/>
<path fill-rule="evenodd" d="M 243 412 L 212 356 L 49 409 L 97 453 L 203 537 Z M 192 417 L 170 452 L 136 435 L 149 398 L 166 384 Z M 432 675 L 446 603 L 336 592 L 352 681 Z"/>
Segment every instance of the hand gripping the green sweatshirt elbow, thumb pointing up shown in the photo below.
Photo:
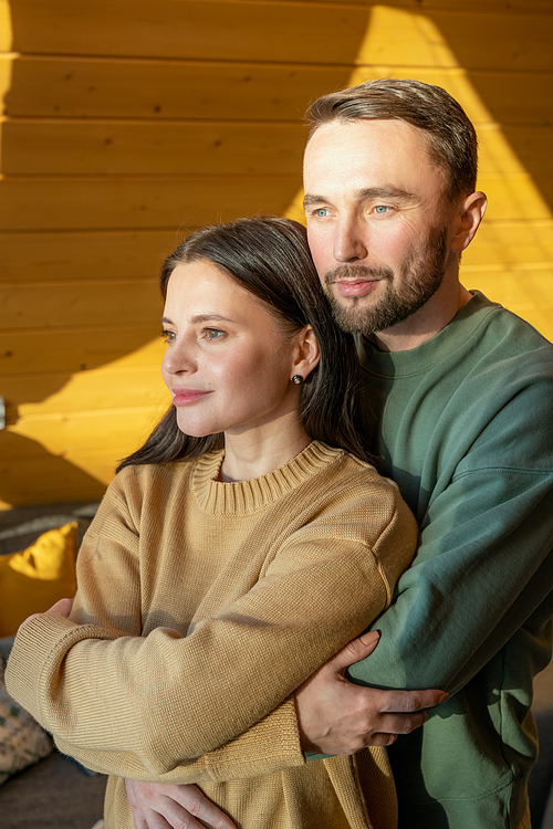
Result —
<path fill-rule="evenodd" d="M 424 710 L 448 697 L 442 691 L 382 691 L 354 685 L 345 670 L 378 643 L 372 631 L 349 642 L 295 692 L 304 752 L 355 754 L 367 745 L 387 746 L 428 720 Z"/>

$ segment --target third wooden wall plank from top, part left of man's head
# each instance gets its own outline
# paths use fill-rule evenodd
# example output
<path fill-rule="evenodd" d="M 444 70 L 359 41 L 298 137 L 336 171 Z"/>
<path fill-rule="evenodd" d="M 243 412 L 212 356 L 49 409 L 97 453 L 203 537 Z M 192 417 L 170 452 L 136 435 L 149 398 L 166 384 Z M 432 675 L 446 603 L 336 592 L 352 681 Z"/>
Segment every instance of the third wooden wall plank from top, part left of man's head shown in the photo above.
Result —
<path fill-rule="evenodd" d="M 301 175 L 301 124 L 10 119 L 4 175 Z"/>

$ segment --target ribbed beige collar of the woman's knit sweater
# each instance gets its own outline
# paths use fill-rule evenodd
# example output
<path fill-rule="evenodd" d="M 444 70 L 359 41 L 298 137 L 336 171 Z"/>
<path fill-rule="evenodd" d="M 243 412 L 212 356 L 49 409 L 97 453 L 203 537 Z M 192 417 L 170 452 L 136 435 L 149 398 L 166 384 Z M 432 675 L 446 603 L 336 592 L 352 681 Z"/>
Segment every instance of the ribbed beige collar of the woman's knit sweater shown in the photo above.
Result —
<path fill-rule="evenodd" d="M 191 490 L 196 501 L 201 510 L 213 515 L 244 515 L 263 510 L 328 466 L 343 454 L 343 450 L 313 441 L 303 452 L 273 472 L 237 483 L 213 481 L 223 454 L 218 451 L 202 455 L 196 462 L 191 475 Z"/>

